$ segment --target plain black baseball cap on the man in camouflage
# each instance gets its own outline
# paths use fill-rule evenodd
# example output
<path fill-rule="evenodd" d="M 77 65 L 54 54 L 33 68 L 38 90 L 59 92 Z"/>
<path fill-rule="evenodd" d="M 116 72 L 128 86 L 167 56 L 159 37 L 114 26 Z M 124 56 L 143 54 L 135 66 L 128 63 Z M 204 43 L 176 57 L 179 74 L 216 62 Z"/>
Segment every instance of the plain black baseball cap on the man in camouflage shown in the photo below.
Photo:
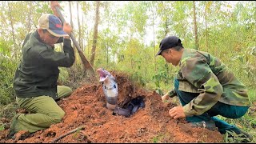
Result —
<path fill-rule="evenodd" d="M 176 46 L 182 46 L 182 41 L 178 37 L 169 36 L 169 37 L 163 38 L 159 45 L 160 50 L 158 51 L 157 54 L 155 54 L 155 56 L 160 55 L 162 53 L 162 50 L 166 50 Z"/>

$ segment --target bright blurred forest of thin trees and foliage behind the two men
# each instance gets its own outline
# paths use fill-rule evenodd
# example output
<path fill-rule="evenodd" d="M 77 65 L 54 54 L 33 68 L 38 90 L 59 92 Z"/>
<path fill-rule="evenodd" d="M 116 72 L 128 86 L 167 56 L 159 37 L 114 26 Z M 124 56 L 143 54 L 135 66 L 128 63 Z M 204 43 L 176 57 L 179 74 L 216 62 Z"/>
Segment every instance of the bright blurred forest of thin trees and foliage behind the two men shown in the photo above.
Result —
<path fill-rule="evenodd" d="M 74 28 L 74 38 L 94 70 L 103 67 L 125 72 L 146 90 L 165 94 L 173 88 L 178 68 L 154 54 L 162 38 L 176 35 L 185 48 L 207 51 L 220 58 L 248 86 L 255 105 L 255 1 L 59 3 L 66 22 Z M 1 1 L 0 9 L 0 108 L 4 110 L 15 102 L 13 77 L 22 57 L 23 39 L 27 33 L 36 30 L 41 14 L 52 14 L 52 10 L 49 1 Z M 56 47 L 56 50 L 62 50 L 62 45 Z M 78 53 L 74 66 L 60 70 L 59 82 L 73 90 L 84 82 L 84 69 Z M 253 108 L 244 119 L 228 121 L 255 135 Z"/>

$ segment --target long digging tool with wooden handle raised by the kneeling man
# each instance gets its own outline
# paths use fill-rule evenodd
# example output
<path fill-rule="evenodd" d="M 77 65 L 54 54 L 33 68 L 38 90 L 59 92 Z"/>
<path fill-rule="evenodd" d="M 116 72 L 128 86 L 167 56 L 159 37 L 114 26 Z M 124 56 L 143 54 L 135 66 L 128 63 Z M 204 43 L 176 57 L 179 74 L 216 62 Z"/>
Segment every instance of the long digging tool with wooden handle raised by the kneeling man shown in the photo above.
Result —
<path fill-rule="evenodd" d="M 58 12 L 58 15 L 59 15 L 62 23 L 66 22 L 62 16 L 61 10 L 59 10 L 58 6 L 55 6 L 55 8 Z M 90 62 L 86 59 L 86 56 L 82 53 L 82 50 L 81 50 L 80 46 L 78 45 L 78 42 L 75 40 L 74 35 L 72 33 L 70 34 L 70 37 L 71 37 L 72 41 L 74 42 L 75 47 L 78 50 L 78 54 L 82 60 L 82 64 L 83 64 L 84 69 L 86 70 L 86 73 L 91 76 L 94 76 L 95 75 L 94 68 L 90 65 Z"/>

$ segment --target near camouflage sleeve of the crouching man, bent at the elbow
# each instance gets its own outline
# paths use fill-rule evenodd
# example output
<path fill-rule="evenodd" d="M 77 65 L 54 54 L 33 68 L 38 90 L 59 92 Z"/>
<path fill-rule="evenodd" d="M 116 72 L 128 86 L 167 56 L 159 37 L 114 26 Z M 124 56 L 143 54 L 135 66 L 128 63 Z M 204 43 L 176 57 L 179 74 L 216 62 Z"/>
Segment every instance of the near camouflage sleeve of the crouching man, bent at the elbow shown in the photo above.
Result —
<path fill-rule="evenodd" d="M 222 85 L 203 56 L 182 59 L 182 77 L 198 88 L 199 95 L 183 106 L 186 116 L 201 115 L 214 106 L 223 93 Z"/>

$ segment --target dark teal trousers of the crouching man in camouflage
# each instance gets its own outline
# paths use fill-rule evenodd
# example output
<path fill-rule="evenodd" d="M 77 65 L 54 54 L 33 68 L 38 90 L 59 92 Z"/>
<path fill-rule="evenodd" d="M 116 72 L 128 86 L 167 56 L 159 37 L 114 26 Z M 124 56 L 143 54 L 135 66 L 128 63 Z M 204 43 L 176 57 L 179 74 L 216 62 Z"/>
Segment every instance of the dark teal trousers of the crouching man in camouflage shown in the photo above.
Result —
<path fill-rule="evenodd" d="M 189 103 L 192 99 L 198 96 L 197 93 L 189 93 L 178 90 L 178 79 L 174 79 L 174 87 L 175 91 L 178 95 L 178 98 L 182 104 L 185 106 Z M 226 118 L 240 118 L 246 111 L 249 109 L 249 106 L 232 106 L 222 102 L 217 102 L 210 110 L 206 111 L 202 115 L 194 115 L 192 117 L 186 117 L 187 122 L 202 122 L 202 121 L 210 121 L 212 119 L 215 122 L 215 125 L 218 127 L 218 131 L 221 134 L 225 134 L 226 130 L 234 131 L 236 134 L 240 134 L 240 130 L 237 126 L 230 125 L 229 123 L 214 117 L 216 115 L 222 115 Z"/>

